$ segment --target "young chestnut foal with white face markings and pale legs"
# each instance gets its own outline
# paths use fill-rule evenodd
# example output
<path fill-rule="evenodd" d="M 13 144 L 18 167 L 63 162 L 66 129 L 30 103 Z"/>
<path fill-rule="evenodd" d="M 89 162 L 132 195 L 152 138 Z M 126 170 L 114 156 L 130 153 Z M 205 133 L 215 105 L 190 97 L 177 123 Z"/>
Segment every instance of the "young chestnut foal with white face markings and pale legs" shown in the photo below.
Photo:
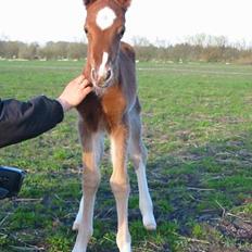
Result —
<path fill-rule="evenodd" d="M 110 179 L 116 200 L 117 236 L 121 252 L 130 252 L 128 230 L 129 179 L 127 155 L 134 164 L 139 188 L 139 207 L 147 229 L 156 228 L 146 177 L 147 150 L 141 140 L 140 103 L 137 97 L 135 52 L 121 39 L 130 0 L 84 0 L 87 9 L 85 32 L 88 59 L 85 76 L 93 85 L 77 108 L 83 144 L 83 199 L 73 228 L 78 230 L 74 252 L 86 252 L 92 236 L 96 192 L 101 175 L 103 136 L 109 134 L 113 173 Z"/>

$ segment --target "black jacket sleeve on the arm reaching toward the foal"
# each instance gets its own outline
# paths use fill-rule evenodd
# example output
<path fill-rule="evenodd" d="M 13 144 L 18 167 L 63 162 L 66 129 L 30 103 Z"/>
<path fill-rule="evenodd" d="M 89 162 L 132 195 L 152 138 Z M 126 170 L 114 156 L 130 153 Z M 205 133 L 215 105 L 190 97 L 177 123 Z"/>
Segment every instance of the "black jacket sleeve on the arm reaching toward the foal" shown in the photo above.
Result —
<path fill-rule="evenodd" d="M 63 116 L 60 102 L 45 96 L 28 102 L 0 100 L 0 148 L 37 137 L 55 127 Z"/>

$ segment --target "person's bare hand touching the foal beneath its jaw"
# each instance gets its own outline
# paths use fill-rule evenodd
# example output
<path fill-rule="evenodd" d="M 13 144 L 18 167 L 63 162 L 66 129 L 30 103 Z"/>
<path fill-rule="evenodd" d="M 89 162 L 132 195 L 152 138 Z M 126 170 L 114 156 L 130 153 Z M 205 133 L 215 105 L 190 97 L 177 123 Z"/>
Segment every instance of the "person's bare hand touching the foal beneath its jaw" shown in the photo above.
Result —
<path fill-rule="evenodd" d="M 80 75 L 66 85 L 61 96 L 56 99 L 61 103 L 64 112 L 77 106 L 86 98 L 92 90 L 89 84 L 85 79 L 85 76 Z"/>

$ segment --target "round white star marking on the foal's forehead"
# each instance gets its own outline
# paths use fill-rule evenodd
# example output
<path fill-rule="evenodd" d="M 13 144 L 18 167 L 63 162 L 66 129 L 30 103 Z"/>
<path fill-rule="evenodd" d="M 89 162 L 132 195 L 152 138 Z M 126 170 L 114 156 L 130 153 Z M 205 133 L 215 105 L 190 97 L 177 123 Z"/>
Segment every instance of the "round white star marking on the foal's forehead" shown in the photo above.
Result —
<path fill-rule="evenodd" d="M 115 12 L 109 7 L 105 7 L 97 13 L 97 25 L 102 30 L 108 29 L 113 25 L 115 18 Z"/>

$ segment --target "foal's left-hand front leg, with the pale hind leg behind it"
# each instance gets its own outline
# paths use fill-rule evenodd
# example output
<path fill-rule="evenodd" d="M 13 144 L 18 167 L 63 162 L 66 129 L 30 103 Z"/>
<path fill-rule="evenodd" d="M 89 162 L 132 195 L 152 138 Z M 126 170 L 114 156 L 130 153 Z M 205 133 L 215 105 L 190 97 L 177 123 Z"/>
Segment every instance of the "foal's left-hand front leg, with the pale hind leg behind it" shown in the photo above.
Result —
<path fill-rule="evenodd" d="M 103 150 L 103 137 L 101 134 L 86 133 L 81 124 L 79 129 L 84 148 L 84 194 L 73 226 L 74 229 L 78 229 L 73 252 L 86 252 L 88 241 L 92 236 L 94 199 L 100 184 L 100 171 L 98 165 Z"/>

